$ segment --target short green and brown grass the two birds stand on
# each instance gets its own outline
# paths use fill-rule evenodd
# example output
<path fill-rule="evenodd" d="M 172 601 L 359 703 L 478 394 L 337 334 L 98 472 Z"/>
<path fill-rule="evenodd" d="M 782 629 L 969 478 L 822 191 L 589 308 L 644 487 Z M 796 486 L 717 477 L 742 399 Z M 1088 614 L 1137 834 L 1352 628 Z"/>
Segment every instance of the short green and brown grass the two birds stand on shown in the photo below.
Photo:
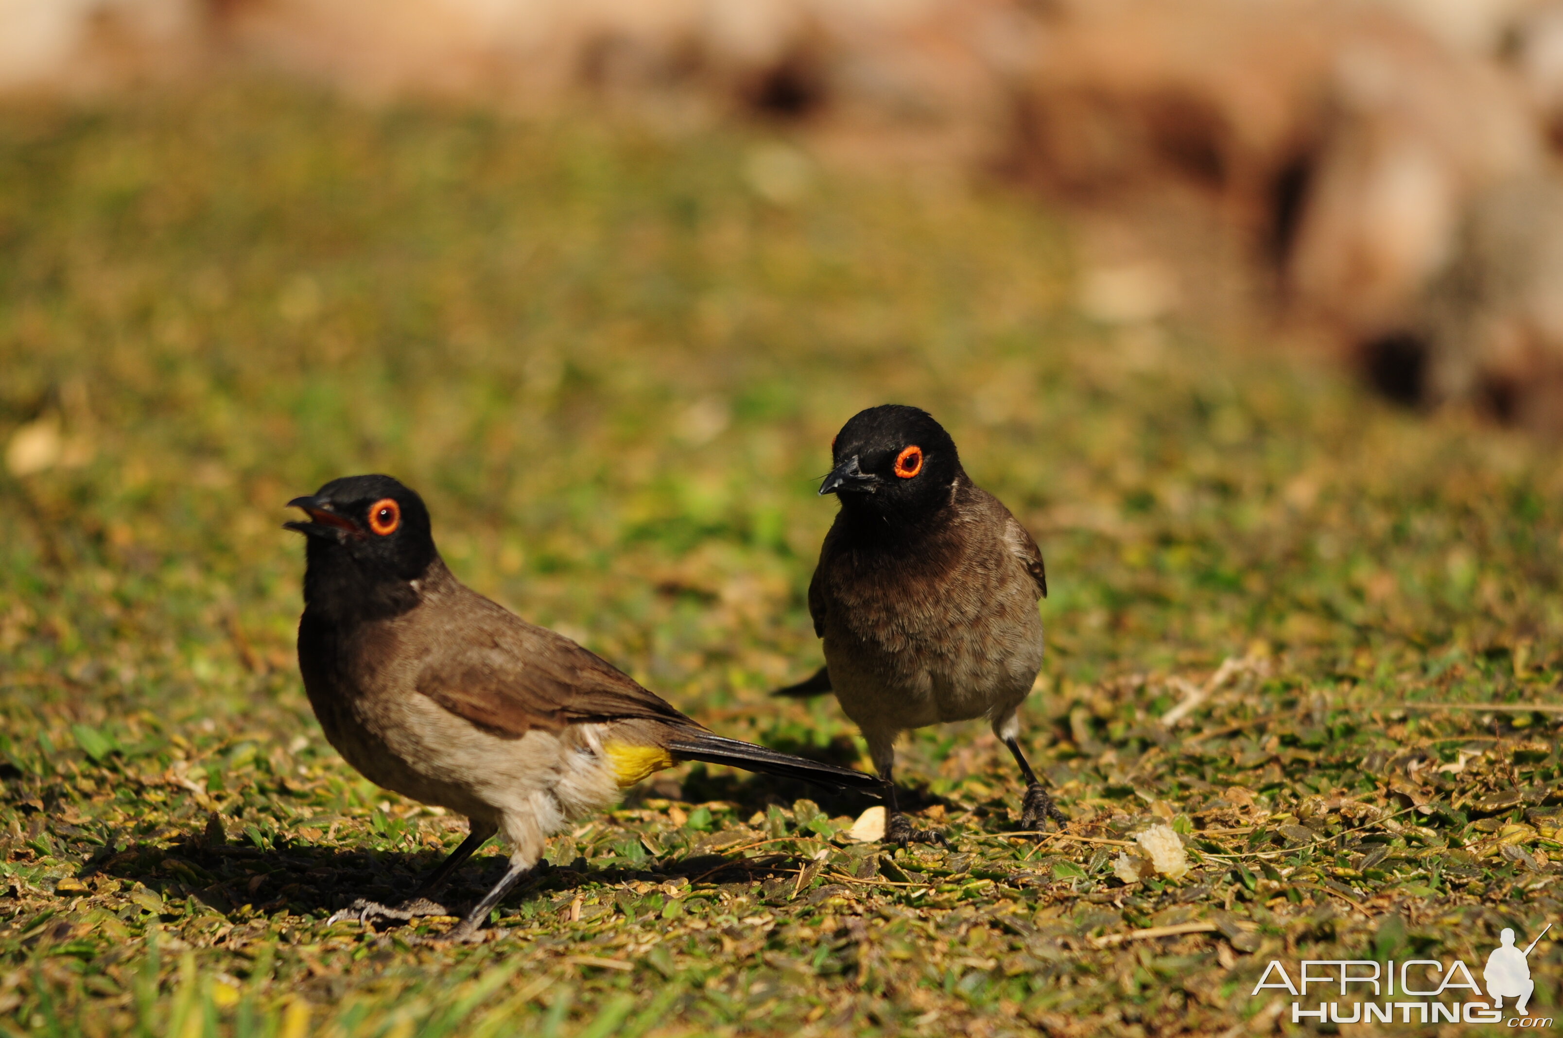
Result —
<path fill-rule="evenodd" d="M 1271 957 L 1479 963 L 1560 919 L 1555 450 L 1093 324 L 1028 200 L 808 166 L 777 199 L 777 147 L 264 83 L 0 113 L 0 1029 L 1293 1030 L 1249 994 Z M 1189 875 L 1005 836 L 1021 786 L 971 724 L 900 769 L 949 850 L 696 766 L 556 838 L 492 943 L 325 925 L 461 825 L 324 744 L 289 497 L 392 472 L 480 591 L 724 733 L 861 763 L 833 702 L 766 689 L 819 663 L 814 478 L 885 400 L 1047 557 L 1024 738 L 1069 833 L 1169 821 Z M 1214 930 L 1133 933 L 1183 922 Z"/>

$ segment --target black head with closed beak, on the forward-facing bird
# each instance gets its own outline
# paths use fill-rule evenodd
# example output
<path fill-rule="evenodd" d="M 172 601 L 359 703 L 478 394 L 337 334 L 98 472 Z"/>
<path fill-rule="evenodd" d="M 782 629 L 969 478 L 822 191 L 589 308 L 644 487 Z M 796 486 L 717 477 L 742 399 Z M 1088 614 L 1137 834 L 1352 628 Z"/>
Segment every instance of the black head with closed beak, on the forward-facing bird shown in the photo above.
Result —
<path fill-rule="evenodd" d="M 830 444 L 835 469 L 821 494 L 841 499 L 844 513 L 917 522 L 950 502 L 964 475 L 955 441 L 933 416 L 903 403 L 858 411 Z"/>

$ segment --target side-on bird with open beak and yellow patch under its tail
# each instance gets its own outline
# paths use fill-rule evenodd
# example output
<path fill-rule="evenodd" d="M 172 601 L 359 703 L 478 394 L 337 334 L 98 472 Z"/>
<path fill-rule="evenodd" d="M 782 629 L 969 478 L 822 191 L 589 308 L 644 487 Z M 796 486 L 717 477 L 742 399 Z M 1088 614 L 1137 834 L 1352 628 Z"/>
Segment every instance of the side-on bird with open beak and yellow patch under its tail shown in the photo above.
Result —
<path fill-rule="evenodd" d="M 467 819 L 413 894 L 331 919 L 450 915 L 430 900 L 491 836 L 505 875 L 444 935 L 481 940 L 500 899 L 564 825 L 677 761 L 706 761 L 877 796 L 878 780 L 739 739 L 680 713 L 569 638 L 480 596 L 445 567 L 422 497 L 389 475 L 333 480 L 288 502 L 308 521 L 299 669 L 325 738 L 366 778 Z"/>

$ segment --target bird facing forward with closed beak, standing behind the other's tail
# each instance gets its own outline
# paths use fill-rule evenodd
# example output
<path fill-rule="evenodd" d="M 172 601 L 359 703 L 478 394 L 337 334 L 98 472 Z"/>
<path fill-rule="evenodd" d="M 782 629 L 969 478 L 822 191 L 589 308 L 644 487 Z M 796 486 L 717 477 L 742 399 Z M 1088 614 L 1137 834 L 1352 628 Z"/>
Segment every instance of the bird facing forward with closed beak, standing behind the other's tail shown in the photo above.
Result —
<path fill-rule="evenodd" d="M 841 506 L 808 585 L 825 666 L 774 694 L 835 693 L 885 783 L 888 843 L 944 843 L 897 810 L 896 739 L 974 718 L 991 722 L 1025 778 L 1021 829 L 1064 822 L 1019 744 L 1044 649 L 1036 541 L 972 483 L 955 441 L 921 408 L 860 411 L 830 449 L 819 492 Z"/>

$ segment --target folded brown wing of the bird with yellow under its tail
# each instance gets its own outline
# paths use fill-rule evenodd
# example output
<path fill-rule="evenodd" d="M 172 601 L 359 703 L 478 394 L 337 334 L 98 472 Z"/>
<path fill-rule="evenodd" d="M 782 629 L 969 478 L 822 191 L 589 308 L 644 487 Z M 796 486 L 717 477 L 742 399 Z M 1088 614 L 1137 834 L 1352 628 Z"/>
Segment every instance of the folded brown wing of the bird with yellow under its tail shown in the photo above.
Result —
<path fill-rule="evenodd" d="M 535 627 L 475 592 L 472 599 L 481 605 L 463 603 L 469 605 L 461 610 L 466 622 L 453 625 L 460 636 L 445 639 L 449 649 L 428 657 L 416 685 L 450 713 L 513 738 L 531 728 L 560 732 L 572 724 L 630 718 L 700 727 L 569 638 Z"/>

